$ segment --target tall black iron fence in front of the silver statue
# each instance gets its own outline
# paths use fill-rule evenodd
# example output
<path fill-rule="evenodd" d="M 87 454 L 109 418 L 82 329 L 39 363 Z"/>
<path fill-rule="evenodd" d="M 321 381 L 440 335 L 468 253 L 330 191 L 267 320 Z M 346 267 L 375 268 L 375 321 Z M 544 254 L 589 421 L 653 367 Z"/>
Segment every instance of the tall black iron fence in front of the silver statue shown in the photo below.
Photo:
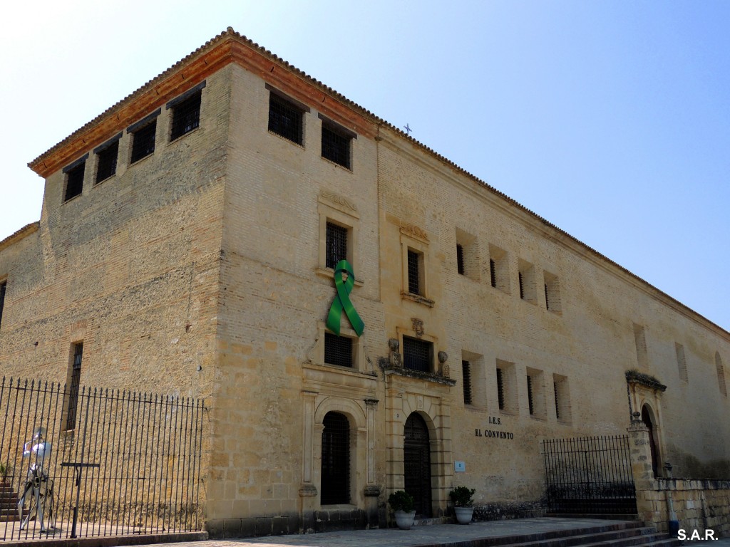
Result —
<path fill-rule="evenodd" d="M 204 403 L 0 384 L 0 538 L 199 530 Z"/>

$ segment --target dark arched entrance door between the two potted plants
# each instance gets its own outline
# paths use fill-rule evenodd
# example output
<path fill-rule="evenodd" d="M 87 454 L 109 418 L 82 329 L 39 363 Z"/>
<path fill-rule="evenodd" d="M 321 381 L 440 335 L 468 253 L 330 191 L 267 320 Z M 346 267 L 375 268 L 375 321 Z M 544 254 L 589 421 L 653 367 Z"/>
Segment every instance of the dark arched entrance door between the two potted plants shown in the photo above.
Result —
<path fill-rule="evenodd" d="M 413 496 L 417 515 L 431 516 L 431 442 L 429 426 L 417 413 L 408 416 L 404 431 L 405 490 Z"/>

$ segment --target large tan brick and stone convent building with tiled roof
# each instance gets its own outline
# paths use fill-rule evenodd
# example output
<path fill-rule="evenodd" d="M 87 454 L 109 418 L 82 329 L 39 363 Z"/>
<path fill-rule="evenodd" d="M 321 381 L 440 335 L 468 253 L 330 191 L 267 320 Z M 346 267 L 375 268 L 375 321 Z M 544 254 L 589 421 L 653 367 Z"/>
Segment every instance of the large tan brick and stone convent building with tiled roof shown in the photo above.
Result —
<path fill-rule="evenodd" d="M 29 166 L 0 368 L 204 397 L 213 534 L 535 508 L 540 441 L 635 411 L 730 476 L 730 333 L 231 28 Z"/>

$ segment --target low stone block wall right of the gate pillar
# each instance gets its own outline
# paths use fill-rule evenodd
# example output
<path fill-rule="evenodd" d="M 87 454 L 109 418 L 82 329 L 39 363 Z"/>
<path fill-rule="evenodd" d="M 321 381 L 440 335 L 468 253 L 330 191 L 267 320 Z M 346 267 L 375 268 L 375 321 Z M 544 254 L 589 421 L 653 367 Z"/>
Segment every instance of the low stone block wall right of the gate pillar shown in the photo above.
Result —
<path fill-rule="evenodd" d="M 666 532 L 669 521 L 676 519 L 688 538 L 697 530 L 704 539 L 706 529 L 712 529 L 715 538 L 730 535 L 730 480 L 658 478 L 652 482 L 652 489 L 637 489 L 640 519 L 660 532 Z"/>

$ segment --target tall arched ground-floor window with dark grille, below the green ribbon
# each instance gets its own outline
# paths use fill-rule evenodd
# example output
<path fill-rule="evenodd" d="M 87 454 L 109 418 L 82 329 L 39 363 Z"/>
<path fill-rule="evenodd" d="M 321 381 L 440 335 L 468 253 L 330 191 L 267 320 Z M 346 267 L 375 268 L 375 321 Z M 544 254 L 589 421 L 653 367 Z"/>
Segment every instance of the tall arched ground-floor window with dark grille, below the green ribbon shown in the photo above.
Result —
<path fill-rule="evenodd" d="M 322 505 L 350 503 L 350 422 L 328 412 L 322 431 Z"/>

